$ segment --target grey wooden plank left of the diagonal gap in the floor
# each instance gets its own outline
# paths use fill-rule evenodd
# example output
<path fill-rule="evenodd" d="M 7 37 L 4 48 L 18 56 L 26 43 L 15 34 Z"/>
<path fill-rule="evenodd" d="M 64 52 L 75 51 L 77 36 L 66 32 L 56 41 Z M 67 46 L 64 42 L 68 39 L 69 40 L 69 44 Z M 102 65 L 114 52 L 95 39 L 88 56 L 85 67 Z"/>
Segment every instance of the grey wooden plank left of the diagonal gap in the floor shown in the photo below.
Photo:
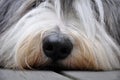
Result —
<path fill-rule="evenodd" d="M 52 71 L 1 70 L 0 80 L 70 80 Z"/>

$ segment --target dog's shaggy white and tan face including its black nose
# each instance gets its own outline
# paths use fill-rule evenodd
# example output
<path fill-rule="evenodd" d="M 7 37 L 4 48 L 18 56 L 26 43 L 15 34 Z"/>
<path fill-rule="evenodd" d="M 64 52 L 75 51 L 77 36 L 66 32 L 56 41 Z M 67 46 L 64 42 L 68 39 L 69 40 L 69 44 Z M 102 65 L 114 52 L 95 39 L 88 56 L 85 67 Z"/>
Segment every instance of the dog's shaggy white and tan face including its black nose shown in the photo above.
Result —
<path fill-rule="evenodd" d="M 33 2 L 28 0 L 18 13 Z M 101 1 L 45 0 L 25 11 L 3 35 L 9 39 L 5 46 L 12 44 L 7 50 L 14 54 L 13 67 L 105 70 L 114 62 L 119 66 L 119 49 L 104 29 Z"/>

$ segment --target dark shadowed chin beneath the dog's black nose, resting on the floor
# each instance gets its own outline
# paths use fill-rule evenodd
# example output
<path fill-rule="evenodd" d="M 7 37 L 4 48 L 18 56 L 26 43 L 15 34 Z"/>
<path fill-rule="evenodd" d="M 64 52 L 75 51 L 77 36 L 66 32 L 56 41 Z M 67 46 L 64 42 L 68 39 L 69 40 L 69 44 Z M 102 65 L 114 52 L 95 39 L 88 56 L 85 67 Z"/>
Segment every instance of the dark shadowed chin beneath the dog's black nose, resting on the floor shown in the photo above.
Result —
<path fill-rule="evenodd" d="M 63 65 L 61 62 L 59 61 L 51 61 L 49 63 L 47 63 L 46 65 L 40 65 L 37 67 L 32 67 L 32 70 L 47 70 L 47 71 L 55 71 L 55 72 L 61 72 L 61 71 L 95 71 L 94 69 L 89 69 L 89 68 L 72 68 L 72 67 L 68 67 Z M 28 69 L 31 70 L 31 69 Z M 102 71 L 102 69 L 99 69 L 97 71 Z"/>

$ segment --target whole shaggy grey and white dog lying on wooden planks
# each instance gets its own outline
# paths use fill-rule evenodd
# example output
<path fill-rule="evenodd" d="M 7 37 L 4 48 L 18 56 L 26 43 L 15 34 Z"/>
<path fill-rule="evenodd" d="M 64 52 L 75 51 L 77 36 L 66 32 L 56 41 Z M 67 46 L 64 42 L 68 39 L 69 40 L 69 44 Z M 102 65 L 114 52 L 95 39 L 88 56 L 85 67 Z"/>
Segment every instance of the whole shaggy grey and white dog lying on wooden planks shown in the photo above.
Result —
<path fill-rule="evenodd" d="M 119 46 L 120 0 L 0 0 L 3 68 L 116 70 Z"/>

